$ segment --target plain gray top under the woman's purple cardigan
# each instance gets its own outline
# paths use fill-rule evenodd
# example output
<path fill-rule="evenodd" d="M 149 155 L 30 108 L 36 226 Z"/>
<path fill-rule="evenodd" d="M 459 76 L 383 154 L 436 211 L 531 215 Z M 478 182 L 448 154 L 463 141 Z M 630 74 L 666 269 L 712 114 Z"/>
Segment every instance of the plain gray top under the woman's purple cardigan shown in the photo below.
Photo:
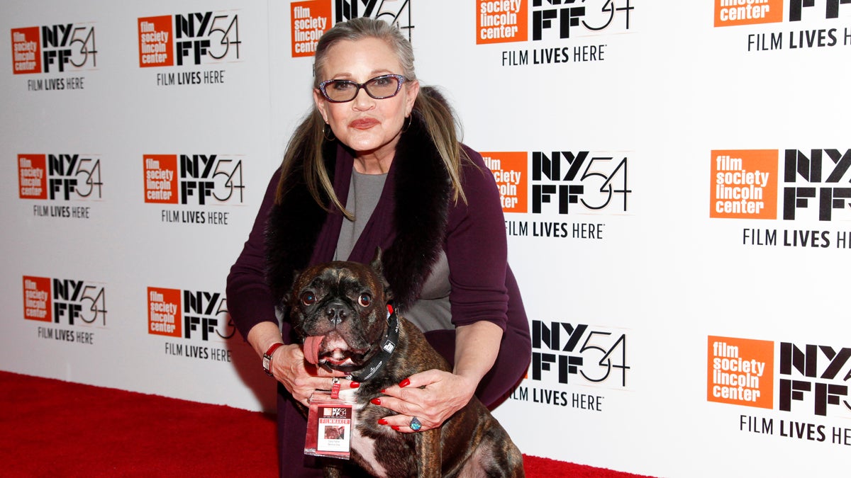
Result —
<path fill-rule="evenodd" d="M 340 226 L 340 238 L 337 240 L 336 260 L 349 258 L 357 238 L 375 210 L 375 205 L 384 189 L 386 174 L 361 174 L 351 171 L 349 197 L 346 209 L 354 213 L 355 220 L 343 220 Z M 437 263 L 431 268 L 431 274 L 420 292 L 420 298 L 408 310 L 402 310 L 403 316 L 414 322 L 420 330 L 427 332 L 437 329 L 452 329 L 452 313 L 449 306 L 449 264 L 446 252 L 441 251 Z"/>

